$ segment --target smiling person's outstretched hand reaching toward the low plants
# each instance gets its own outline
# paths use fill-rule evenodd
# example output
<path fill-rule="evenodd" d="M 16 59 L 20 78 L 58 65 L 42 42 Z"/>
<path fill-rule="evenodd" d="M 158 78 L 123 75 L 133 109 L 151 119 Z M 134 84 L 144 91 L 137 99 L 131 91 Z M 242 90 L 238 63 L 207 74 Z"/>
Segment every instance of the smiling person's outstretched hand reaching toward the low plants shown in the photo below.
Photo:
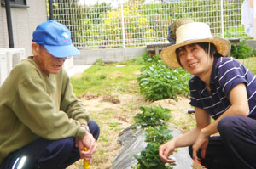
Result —
<path fill-rule="evenodd" d="M 174 160 L 168 158 L 170 155 L 172 155 L 175 148 L 176 147 L 173 140 L 167 142 L 166 144 L 162 144 L 159 147 L 160 160 L 169 163 L 175 162 Z"/>

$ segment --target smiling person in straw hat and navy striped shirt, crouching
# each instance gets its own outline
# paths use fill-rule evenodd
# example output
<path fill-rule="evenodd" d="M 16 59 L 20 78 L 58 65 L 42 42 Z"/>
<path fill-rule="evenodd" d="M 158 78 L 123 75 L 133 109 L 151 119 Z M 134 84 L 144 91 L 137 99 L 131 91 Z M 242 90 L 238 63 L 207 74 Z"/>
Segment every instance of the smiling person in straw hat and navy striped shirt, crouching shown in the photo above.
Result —
<path fill-rule="evenodd" d="M 176 32 L 176 44 L 165 48 L 161 58 L 194 75 L 189 91 L 196 127 L 161 145 L 161 160 L 173 162 L 168 157 L 174 149 L 189 146 L 190 156 L 207 168 L 256 168 L 251 158 L 256 152 L 256 77 L 227 57 L 230 42 L 212 37 L 207 24 L 188 23 Z"/>

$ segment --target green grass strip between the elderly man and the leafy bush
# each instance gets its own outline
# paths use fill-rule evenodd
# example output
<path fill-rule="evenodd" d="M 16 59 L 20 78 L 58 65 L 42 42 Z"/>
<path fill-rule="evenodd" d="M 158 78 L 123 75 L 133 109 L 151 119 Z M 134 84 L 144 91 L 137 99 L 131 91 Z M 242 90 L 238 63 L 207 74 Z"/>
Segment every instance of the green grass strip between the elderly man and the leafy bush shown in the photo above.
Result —
<path fill-rule="evenodd" d="M 82 76 L 72 77 L 73 92 L 77 96 L 83 93 L 99 95 L 110 93 L 137 93 L 137 76 L 143 65 L 139 59 L 123 62 L 120 66 L 116 63 L 93 65 L 85 70 Z M 142 59 L 141 59 L 142 60 Z M 136 61 L 136 62 L 135 62 Z"/>

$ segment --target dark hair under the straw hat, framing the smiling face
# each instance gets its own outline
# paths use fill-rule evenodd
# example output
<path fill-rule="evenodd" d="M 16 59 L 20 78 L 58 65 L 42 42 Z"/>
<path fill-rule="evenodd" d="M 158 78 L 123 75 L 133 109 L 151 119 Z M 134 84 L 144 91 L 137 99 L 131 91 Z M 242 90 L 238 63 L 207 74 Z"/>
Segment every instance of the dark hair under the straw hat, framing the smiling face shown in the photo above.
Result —
<path fill-rule="evenodd" d="M 211 57 L 212 56 L 216 57 L 216 58 L 222 57 L 222 55 L 218 53 L 217 48 L 215 47 L 215 45 L 213 43 L 210 43 L 210 51 L 208 51 L 209 50 L 209 42 L 198 42 L 198 43 L 192 43 L 190 45 L 195 45 L 195 44 L 198 44 L 206 53 L 209 52 Z M 180 63 L 180 59 L 178 57 L 178 53 L 179 53 L 179 51 L 184 50 L 184 49 L 185 49 L 185 47 L 183 46 L 183 47 L 177 48 L 175 51 L 177 62 L 179 63 L 179 65 L 181 65 L 181 63 Z"/>

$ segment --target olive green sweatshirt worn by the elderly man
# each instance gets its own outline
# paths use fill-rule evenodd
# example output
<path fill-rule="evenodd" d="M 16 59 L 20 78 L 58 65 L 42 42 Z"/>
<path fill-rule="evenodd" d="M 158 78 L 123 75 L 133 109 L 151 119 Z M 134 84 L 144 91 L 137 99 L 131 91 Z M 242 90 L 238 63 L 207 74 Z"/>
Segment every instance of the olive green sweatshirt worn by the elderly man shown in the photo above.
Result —
<path fill-rule="evenodd" d="M 0 164 L 9 153 L 37 138 L 83 138 L 90 121 L 63 69 L 44 75 L 28 58 L 0 87 Z"/>

